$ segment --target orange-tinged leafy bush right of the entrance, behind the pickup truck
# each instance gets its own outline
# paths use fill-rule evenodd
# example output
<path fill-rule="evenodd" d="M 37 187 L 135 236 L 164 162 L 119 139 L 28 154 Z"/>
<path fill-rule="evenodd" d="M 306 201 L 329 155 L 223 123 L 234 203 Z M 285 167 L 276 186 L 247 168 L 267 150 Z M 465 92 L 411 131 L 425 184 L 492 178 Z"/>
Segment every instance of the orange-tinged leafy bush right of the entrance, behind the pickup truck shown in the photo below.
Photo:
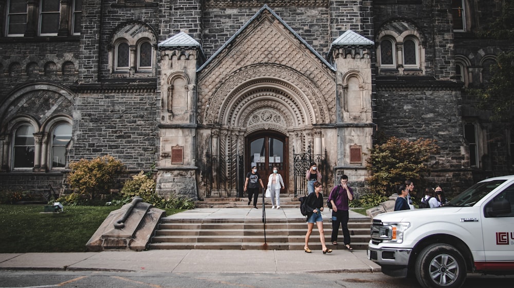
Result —
<path fill-rule="evenodd" d="M 405 180 L 422 184 L 423 176 L 430 171 L 427 162 L 438 151 L 435 140 L 421 138 L 411 142 L 389 138 L 369 153 L 366 168 L 372 176 L 366 178 L 368 188 L 371 193 L 391 195 L 396 192 L 396 185 Z"/>

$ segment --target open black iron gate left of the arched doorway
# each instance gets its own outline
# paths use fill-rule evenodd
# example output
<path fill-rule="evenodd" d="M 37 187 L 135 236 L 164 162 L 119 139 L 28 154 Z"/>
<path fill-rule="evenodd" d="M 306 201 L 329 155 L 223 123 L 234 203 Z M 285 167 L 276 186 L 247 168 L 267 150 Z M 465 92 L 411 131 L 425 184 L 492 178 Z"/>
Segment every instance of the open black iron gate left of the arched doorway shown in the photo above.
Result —
<path fill-rule="evenodd" d="M 207 155 L 207 197 L 243 197 L 245 181 L 242 155 Z"/>

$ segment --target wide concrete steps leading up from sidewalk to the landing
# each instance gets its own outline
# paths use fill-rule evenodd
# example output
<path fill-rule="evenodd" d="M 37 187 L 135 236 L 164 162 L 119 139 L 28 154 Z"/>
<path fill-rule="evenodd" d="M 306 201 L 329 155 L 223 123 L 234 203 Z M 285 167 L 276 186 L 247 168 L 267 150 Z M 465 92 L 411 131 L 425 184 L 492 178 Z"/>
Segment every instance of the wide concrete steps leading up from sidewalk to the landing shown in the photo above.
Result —
<path fill-rule="evenodd" d="M 370 241 L 368 218 L 350 219 L 348 229 L 354 249 L 366 249 Z M 331 249 L 344 249 L 343 235 L 339 229 L 338 243 L 330 241 L 332 223 L 323 222 L 325 242 Z M 303 250 L 307 224 L 305 218 L 269 219 L 266 223 L 266 243 L 264 224 L 261 219 L 170 219 L 163 218 L 150 249 L 277 249 Z M 321 249 L 319 232 L 316 226 L 310 235 L 309 247 Z"/>

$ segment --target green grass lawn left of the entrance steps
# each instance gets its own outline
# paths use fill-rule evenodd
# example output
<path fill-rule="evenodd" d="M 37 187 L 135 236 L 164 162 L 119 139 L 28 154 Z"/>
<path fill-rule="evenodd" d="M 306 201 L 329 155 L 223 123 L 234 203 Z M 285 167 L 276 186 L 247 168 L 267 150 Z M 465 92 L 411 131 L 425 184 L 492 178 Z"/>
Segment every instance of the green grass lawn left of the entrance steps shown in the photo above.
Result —
<path fill-rule="evenodd" d="M 65 206 L 65 213 L 44 212 L 44 205 L 0 205 L 0 253 L 85 252 L 85 245 L 116 206 Z M 166 215 L 180 212 L 166 209 Z"/>

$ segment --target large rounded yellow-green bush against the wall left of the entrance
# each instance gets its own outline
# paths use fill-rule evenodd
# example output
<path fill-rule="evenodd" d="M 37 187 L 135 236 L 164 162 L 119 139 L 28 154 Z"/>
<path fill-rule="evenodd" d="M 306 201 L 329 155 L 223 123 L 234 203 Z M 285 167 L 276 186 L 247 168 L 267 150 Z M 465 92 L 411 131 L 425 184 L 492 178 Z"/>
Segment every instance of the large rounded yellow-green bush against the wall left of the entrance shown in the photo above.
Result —
<path fill-rule="evenodd" d="M 66 182 L 79 195 L 94 200 L 98 194 L 108 194 L 117 178 L 125 172 L 121 161 L 105 155 L 93 160 L 81 159 L 69 164 L 71 172 Z"/>

